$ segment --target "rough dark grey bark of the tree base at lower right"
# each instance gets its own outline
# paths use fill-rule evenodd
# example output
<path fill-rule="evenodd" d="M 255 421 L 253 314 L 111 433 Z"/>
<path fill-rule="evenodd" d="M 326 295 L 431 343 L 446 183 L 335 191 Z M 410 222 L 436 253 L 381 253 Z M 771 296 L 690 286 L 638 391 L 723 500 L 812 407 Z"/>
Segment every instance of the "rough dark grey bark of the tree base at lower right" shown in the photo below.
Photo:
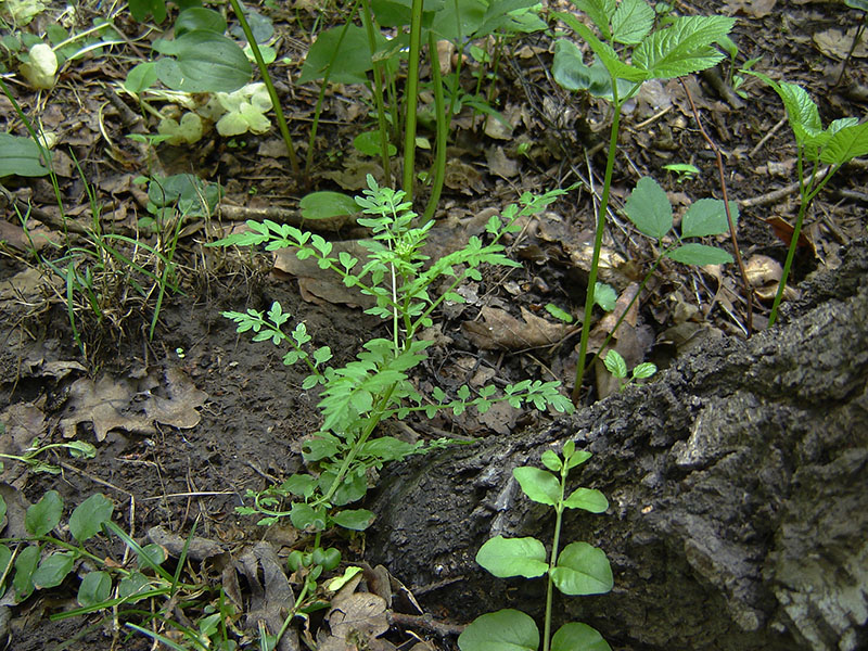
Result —
<path fill-rule="evenodd" d="M 573 439 L 593 457 L 576 484 L 605 514 L 569 512 L 562 540 L 607 551 L 615 589 L 557 597 L 557 620 L 614 649 L 868 648 L 868 245 L 802 286 L 780 327 L 709 342 L 653 384 L 549 430 L 486 438 L 391 469 L 373 508 L 372 562 L 446 616 L 540 614 L 544 582 L 474 562 L 492 536 L 550 540 L 518 465 Z"/>

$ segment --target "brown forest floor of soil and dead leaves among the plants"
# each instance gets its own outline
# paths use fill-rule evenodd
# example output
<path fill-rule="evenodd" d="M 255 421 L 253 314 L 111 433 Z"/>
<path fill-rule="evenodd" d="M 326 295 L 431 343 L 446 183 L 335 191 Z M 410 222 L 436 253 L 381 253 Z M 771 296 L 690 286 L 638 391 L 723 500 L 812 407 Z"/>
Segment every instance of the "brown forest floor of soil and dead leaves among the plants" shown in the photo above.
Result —
<path fill-rule="evenodd" d="M 267 2 L 259 11 L 280 36 L 272 74 L 284 99 L 291 132 L 302 142 L 307 140 L 319 87 L 294 86 L 292 80 L 298 76 L 315 25 L 317 29 L 337 25 L 342 16 L 334 9 L 322 10 L 320 4 L 335 4 L 324 0 L 291 4 L 277 8 Z M 858 11 L 845 11 L 837 2 L 805 0 L 697 0 L 675 5 L 676 12 L 686 15 L 722 12 L 736 16 L 731 36 L 739 48 L 737 67 L 745 60 L 758 59 L 754 69 L 799 82 L 817 101 L 824 125 L 866 115 L 865 44 L 856 49 L 843 80 L 835 85 L 861 20 Z M 53 3 L 23 29 L 42 35 L 52 23 L 66 23 L 71 31 L 78 33 L 100 15 L 92 3 L 81 3 L 74 15 L 61 16 L 62 12 L 64 8 Z M 279 484 L 301 468 L 302 443 L 318 430 L 321 417 L 318 397 L 302 390 L 303 374 L 281 362 L 283 352 L 238 334 L 220 312 L 267 310 L 277 301 L 294 320 L 306 323 L 317 345 L 330 346 L 341 363 L 353 359 L 372 333 L 385 336 L 386 327 L 362 312 L 363 302 L 340 279 L 322 275 L 316 266 L 299 265 L 294 256 L 205 247 L 238 230 L 241 220 L 256 209 L 285 208 L 286 214 L 297 214 L 304 191 L 291 178 L 275 129 L 263 136 L 234 138 L 213 132 L 193 145 L 159 144 L 155 150 L 128 139 L 130 131 L 154 132 L 156 120 L 149 114 L 138 115 L 136 102 L 119 91 L 118 84 L 141 60 L 141 50 L 162 35 L 125 12 L 113 21 L 129 42 L 69 62 L 50 91 L 33 91 L 13 74 L 18 65 L 14 56 L 8 55 L 5 62 L 13 71 L 4 77 L 12 95 L 30 119 L 58 137 L 60 201 L 67 227 L 74 227 L 66 232 L 59 228 L 63 220 L 58 199 L 46 178 L 0 179 L 4 188 L 0 197 L 4 215 L 0 220 L 0 420 L 4 425 L 0 452 L 21 456 L 38 438 L 41 445 L 84 441 L 95 446 L 95 456 L 74 458 L 64 449 L 49 450 L 40 459 L 51 463 L 56 473 L 37 472 L 39 468 L 33 463 L 8 460 L 0 475 L 2 495 L 8 505 L 26 508 L 46 492 L 56 490 L 68 512 L 94 493 L 103 493 L 115 505 L 115 521 L 132 538 L 159 541 L 175 554 L 179 551 L 168 533 L 183 540 L 195 524 L 199 541 L 215 547 L 191 560 L 182 576 L 189 574 L 184 580 L 201 582 L 218 592 L 222 585 L 228 599 L 240 599 L 237 625 L 242 629 L 250 625 L 243 618 L 245 611 L 250 614 L 252 603 L 263 596 L 233 563 L 260 540 L 268 541 L 281 558 L 304 540 L 291 526 L 257 526 L 255 518 L 239 515 L 235 508 L 248 505 L 248 490 Z M 435 213 L 437 226 L 429 255 L 436 258 L 468 237 L 483 233 L 488 216 L 516 202 L 522 192 L 578 187 L 527 219 L 523 230 L 508 241 L 509 255 L 521 267 L 486 269 L 481 281 L 460 290 L 465 304 L 450 304 L 435 314 L 430 336 L 436 345 L 420 367 L 422 373 L 413 378 L 423 390 L 442 386 L 448 392 L 462 384 L 490 381 L 502 385 L 538 379 L 559 380 L 565 394 L 572 391 L 578 320 L 573 324 L 560 321 L 546 306 L 554 305 L 580 319 L 605 165 L 604 148 L 598 145 L 607 139 L 611 111 L 602 100 L 571 94 L 557 86 L 550 73 L 552 52 L 553 38 L 545 33 L 512 40 L 503 49 L 498 77 L 486 81 L 483 92 L 490 84 L 488 101 L 509 127 L 474 116 L 469 106 L 454 119 L 446 189 Z M 469 59 L 462 79 L 469 92 L 475 84 L 474 69 L 478 65 Z M 729 197 L 740 207 L 741 255 L 750 270 L 765 278 L 757 281 L 752 297 L 753 328 L 760 330 L 767 322 L 769 291 L 780 277 L 788 228 L 792 232 L 788 224 L 792 225 L 799 207 L 799 191 L 792 186 L 796 150 L 779 98 L 752 77 L 739 89 L 744 98 L 722 94 L 720 84 L 727 86 L 729 78 L 730 63 L 725 60 L 712 75 L 685 81 L 705 128 L 724 154 Z M 400 78 L 398 82 L 403 82 Z M 423 103 L 431 100 L 424 92 L 420 97 Z M 354 138 L 369 128 L 369 94 L 360 86 L 329 87 L 310 190 L 352 195 L 363 187 L 366 173 L 379 169 L 382 175 L 371 158 L 352 146 Z M 3 131 L 26 135 L 7 98 L 0 97 L 0 107 Z M 424 128 L 422 135 L 433 142 L 433 133 Z M 430 163 L 420 150 L 418 167 L 423 169 Z M 663 167 L 668 164 L 691 164 L 699 173 L 681 178 Z M 84 273 L 87 260 L 95 257 L 81 253 L 95 247 L 93 238 L 82 234 L 94 225 L 82 179 L 94 192 L 93 203 L 102 205 L 95 219 L 104 233 L 164 247 L 165 233 L 148 231 L 142 221 L 150 217 L 148 195 L 137 178 L 186 173 L 219 181 L 226 194 L 212 214 L 189 220 L 180 230 L 174 252 L 179 291 L 168 292 L 157 308 L 156 289 L 141 295 L 130 286 L 118 286 L 116 279 L 124 275 L 117 269 L 91 265 L 102 302 L 103 315 L 98 320 L 82 294 L 67 295 L 63 268 L 55 264 L 52 272 L 48 264 L 63 258 L 65 265 L 74 259 Z M 618 212 L 643 176 L 663 186 L 676 215 L 695 200 L 720 197 L 714 154 L 702 139 L 677 80 L 647 84 L 623 117 L 602 272 L 602 280 L 621 301 L 628 301 L 654 259 L 652 243 Z M 834 269 L 840 247 L 865 235 L 866 187 L 868 169 L 857 161 L 819 194 L 803 231 L 793 288 L 816 269 Z M 418 204 L 424 206 L 425 199 L 426 190 L 420 184 Z M 26 230 L 13 207 L 15 202 L 33 206 Z M 344 227 L 332 229 L 329 237 L 347 242 L 358 233 Z M 716 244 L 731 251 L 728 238 L 718 238 Z M 118 246 L 133 261 L 146 261 L 142 248 L 125 242 Z M 71 328 L 71 309 L 80 346 Z M 149 336 L 156 309 L 153 336 Z M 595 312 L 596 339 L 591 341 L 597 346 L 607 333 L 604 316 L 602 310 Z M 704 336 L 748 336 L 748 302 L 736 265 L 695 268 L 668 261 L 659 267 L 625 321 L 617 346 L 630 367 L 651 360 L 664 369 L 679 355 L 701 354 L 691 343 Z M 612 391 L 604 379 L 586 378 L 586 404 Z M 539 429 L 556 416 L 503 407 L 484 416 L 468 411 L 433 420 L 411 418 L 406 425 L 412 436 L 422 439 L 468 439 Z M 9 507 L 5 537 L 15 537 L 13 525 L 17 518 L 21 527 L 21 512 L 15 515 Z M 157 526 L 163 528 L 155 531 Z M 151 538 L 145 540 L 149 532 Z M 335 544 L 343 549 L 345 561 L 363 559 L 363 538 Z M 93 553 L 117 563 L 128 560 L 124 546 L 116 541 L 99 539 Z M 0 607 L 4 613 L 0 634 L 11 640 L 9 648 L 151 647 L 148 637 L 118 629 L 111 611 L 51 621 L 50 615 L 78 607 L 77 585 L 71 576 L 23 601 L 16 599 L 14 589 L 8 589 Z M 412 592 L 413 586 L 408 588 Z M 260 586 L 263 590 L 267 592 L 267 586 Z M 218 599 L 215 592 L 208 595 L 190 599 L 195 605 L 173 603 L 167 612 L 159 611 L 161 616 L 201 622 L 203 604 Z M 151 605 L 141 602 L 138 608 L 146 611 Z M 257 608 L 267 610 L 261 603 Z M 436 615 L 455 625 L 467 623 L 461 613 Z M 135 621 L 164 634 L 171 628 L 149 618 L 148 613 L 140 613 Z M 316 622 L 311 620 L 312 636 L 317 635 Z M 229 637 L 242 647 L 258 648 L 255 627 L 254 621 L 253 629 Z M 382 644 L 391 640 L 394 646 L 370 648 L 409 649 L 412 643 L 408 642 L 426 644 L 420 650 L 456 648 L 454 637 L 439 637 L 437 630 L 446 628 L 421 624 L 414 628 L 403 621 L 383 638 L 371 638 Z M 173 639 L 192 644 L 177 636 Z"/>

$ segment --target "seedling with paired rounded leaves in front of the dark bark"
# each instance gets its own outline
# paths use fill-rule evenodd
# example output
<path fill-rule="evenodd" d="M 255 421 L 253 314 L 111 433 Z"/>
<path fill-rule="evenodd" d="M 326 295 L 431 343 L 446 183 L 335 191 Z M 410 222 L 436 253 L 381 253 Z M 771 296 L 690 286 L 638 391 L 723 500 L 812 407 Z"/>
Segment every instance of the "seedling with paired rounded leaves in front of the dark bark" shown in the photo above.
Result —
<path fill-rule="evenodd" d="M 599 631 L 587 624 L 570 622 L 551 635 L 551 610 L 554 588 L 564 595 L 602 595 L 614 585 L 612 567 L 605 553 L 587 542 L 571 542 L 560 550 L 561 523 L 566 509 L 602 513 L 609 501 L 592 488 L 576 488 L 566 497 L 566 476 L 573 468 L 590 458 L 590 452 L 576 450 L 570 441 L 559 457 L 552 450 L 542 452 L 542 464 L 551 472 L 523 467 L 512 471 L 522 492 L 533 501 L 554 510 L 554 537 L 551 553 L 536 538 L 487 540 L 476 553 L 476 562 L 498 578 L 521 576 L 547 577 L 546 614 L 542 646 L 539 629 L 529 615 L 518 610 L 501 610 L 473 621 L 458 638 L 461 651 L 611 651 Z M 557 473 L 557 474 L 552 474 Z"/>

